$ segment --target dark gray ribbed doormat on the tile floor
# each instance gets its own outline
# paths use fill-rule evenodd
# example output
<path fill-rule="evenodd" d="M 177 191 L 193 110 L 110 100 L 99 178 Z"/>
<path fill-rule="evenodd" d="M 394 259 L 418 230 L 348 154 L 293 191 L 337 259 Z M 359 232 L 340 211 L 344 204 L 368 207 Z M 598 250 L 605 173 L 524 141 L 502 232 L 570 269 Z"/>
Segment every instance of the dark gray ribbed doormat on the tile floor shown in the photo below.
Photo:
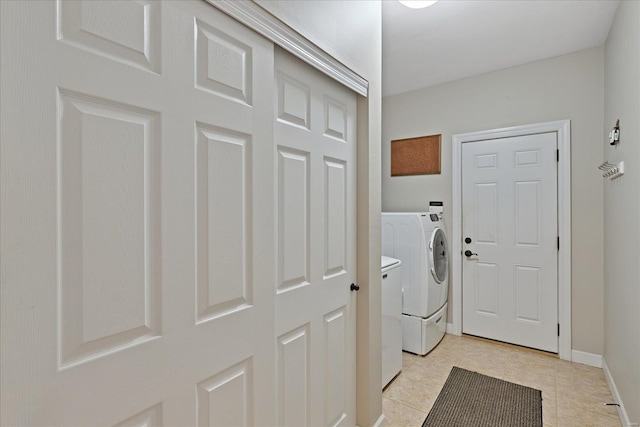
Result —
<path fill-rule="evenodd" d="M 542 392 L 454 366 L 422 427 L 542 427 Z"/>

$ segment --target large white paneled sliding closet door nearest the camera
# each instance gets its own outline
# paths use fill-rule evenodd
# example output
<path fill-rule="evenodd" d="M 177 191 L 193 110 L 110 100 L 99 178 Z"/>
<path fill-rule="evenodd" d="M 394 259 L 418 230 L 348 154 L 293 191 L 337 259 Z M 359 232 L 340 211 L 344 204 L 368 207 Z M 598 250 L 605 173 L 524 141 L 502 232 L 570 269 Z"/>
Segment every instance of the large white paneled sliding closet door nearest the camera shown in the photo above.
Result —
<path fill-rule="evenodd" d="M 275 425 L 273 45 L 205 2 L 0 8 L 0 424 Z"/>

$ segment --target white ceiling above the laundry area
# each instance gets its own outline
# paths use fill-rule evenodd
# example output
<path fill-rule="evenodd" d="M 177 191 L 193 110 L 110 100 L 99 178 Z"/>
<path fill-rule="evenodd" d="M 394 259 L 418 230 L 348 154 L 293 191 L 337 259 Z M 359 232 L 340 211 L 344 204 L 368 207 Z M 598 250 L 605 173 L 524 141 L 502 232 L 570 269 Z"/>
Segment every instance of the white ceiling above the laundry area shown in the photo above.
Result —
<path fill-rule="evenodd" d="M 383 96 L 604 44 L 618 0 L 382 2 Z"/>

